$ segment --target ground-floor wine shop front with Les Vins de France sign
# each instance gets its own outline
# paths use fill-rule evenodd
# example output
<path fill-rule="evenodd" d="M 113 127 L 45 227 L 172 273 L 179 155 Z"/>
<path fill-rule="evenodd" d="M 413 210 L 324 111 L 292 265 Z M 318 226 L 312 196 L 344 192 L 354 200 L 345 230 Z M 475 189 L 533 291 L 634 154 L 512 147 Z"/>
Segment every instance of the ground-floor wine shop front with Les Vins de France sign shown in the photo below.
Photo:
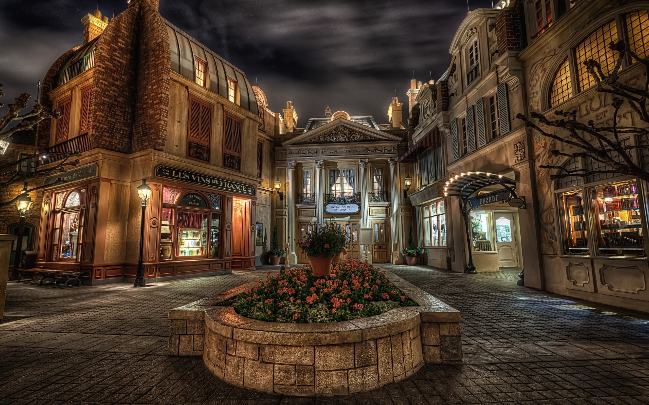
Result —
<path fill-rule="evenodd" d="M 135 278 L 142 181 L 104 178 L 102 169 L 112 171 L 106 163 L 46 180 L 53 187 L 43 196 L 37 267 L 80 270 L 91 285 Z M 255 187 L 164 165 L 152 171 L 142 247 L 147 281 L 254 269 Z M 56 185 L 62 176 L 66 183 Z"/>

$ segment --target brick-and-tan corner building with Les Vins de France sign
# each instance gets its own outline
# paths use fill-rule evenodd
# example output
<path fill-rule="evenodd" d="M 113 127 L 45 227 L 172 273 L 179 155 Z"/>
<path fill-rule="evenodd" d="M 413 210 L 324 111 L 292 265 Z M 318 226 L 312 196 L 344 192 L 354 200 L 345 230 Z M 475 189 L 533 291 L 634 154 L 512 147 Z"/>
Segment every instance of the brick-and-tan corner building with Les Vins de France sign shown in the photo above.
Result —
<path fill-rule="evenodd" d="M 44 78 L 43 104 L 62 117 L 42 122 L 36 146 L 82 157 L 43 193 L 38 265 L 81 269 L 92 284 L 134 277 L 146 179 L 145 277 L 254 268 L 269 243 L 278 126 L 262 90 L 157 0 L 82 23 L 82 45 Z"/>

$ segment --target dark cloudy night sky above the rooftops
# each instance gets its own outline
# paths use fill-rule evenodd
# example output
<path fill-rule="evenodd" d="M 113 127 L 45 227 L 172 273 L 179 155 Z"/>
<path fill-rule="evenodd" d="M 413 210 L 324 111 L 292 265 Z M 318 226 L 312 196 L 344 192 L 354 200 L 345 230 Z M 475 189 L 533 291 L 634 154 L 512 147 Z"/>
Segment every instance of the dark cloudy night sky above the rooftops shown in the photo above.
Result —
<path fill-rule="evenodd" d="M 471 0 L 471 9 L 491 0 Z M 8 104 L 68 49 L 82 43 L 82 16 L 96 0 L 0 0 L 0 83 Z M 100 0 L 112 17 L 125 0 Z M 463 0 L 160 0 L 162 16 L 243 70 L 281 112 L 295 100 L 300 117 L 332 111 L 387 123 L 395 89 L 407 111 L 412 71 L 437 80 L 467 13 Z M 0 113 L 6 110 L 3 109 Z M 407 113 L 404 114 L 404 121 Z"/>

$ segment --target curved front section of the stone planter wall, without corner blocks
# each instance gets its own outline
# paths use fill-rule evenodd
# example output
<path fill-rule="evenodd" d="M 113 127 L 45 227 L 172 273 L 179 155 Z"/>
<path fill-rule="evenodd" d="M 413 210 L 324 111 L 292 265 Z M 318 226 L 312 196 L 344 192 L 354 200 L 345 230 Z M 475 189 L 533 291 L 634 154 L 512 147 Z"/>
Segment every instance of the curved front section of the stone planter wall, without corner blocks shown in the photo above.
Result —
<path fill-rule="evenodd" d="M 424 364 L 416 310 L 331 323 L 275 323 L 232 307 L 205 312 L 203 362 L 229 384 L 268 393 L 347 395 L 397 382 Z"/>

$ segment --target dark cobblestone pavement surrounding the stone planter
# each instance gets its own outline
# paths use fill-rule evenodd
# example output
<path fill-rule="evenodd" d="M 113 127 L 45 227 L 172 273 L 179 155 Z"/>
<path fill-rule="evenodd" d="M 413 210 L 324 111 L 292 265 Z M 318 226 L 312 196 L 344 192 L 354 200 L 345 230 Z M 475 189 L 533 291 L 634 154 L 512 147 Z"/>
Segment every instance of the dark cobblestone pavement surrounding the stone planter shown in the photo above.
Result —
<path fill-rule="evenodd" d="M 48 288 L 12 282 L 1 404 L 649 404 L 649 314 L 516 286 L 516 272 L 386 266 L 462 312 L 465 364 L 424 365 L 369 393 L 295 399 L 229 386 L 165 355 L 169 308 L 264 272 Z"/>

